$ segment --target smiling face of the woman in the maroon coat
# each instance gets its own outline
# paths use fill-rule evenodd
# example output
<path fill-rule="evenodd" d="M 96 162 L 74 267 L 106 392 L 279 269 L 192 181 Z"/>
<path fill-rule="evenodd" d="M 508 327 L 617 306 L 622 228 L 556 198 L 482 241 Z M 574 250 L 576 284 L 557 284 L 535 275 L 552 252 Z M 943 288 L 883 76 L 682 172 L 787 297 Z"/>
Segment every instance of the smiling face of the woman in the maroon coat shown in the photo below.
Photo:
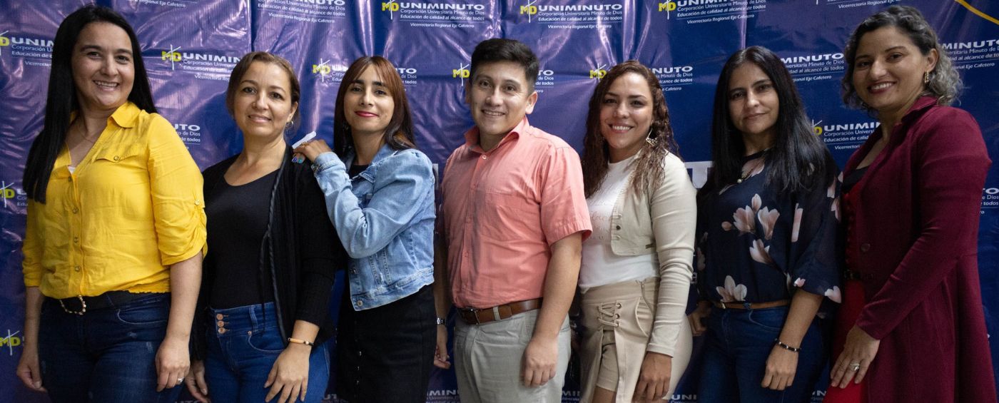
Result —
<path fill-rule="evenodd" d="M 898 28 L 881 27 L 860 38 L 853 87 L 880 119 L 896 122 L 923 93 L 923 75 L 936 61 L 936 49 L 923 55 Z"/>

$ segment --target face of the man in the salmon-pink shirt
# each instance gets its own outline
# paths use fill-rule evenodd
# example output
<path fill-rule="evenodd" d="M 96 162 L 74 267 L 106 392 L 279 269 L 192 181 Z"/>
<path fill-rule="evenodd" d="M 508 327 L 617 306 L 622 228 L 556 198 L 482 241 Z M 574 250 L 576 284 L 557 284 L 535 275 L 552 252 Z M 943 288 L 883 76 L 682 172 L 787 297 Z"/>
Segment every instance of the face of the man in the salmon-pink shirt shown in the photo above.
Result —
<path fill-rule="evenodd" d="M 472 110 L 472 120 L 481 138 L 502 138 L 523 117 L 534 111 L 537 93 L 527 83 L 520 65 L 491 62 L 476 69 L 469 81 L 465 102 Z"/>

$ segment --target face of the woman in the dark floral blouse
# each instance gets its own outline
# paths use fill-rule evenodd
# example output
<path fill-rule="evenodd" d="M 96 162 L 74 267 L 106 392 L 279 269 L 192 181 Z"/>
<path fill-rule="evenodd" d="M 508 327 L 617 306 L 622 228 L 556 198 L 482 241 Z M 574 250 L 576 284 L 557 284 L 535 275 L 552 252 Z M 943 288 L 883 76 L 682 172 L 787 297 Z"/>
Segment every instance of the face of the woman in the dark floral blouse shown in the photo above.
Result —
<path fill-rule="evenodd" d="M 780 100 L 773 81 L 755 63 L 747 62 L 732 71 L 728 80 L 728 116 L 743 137 L 753 136 L 772 143 L 775 137 Z"/>

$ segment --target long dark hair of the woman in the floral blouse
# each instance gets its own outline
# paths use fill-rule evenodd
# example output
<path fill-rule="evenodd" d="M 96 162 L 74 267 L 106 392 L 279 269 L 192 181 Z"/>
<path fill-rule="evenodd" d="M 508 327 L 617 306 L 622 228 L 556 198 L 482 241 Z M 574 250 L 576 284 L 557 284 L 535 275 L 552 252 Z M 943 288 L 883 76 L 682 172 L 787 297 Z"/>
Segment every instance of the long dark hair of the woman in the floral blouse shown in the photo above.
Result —
<path fill-rule="evenodd" d="M 770 166 L 766 184 L 778 193 L 794 193 L 816 185 L 828 186 L 834 180 L 836 164 L 825 144 L 815 136 L 805 115 L 804 105 L 794 80 L 776 54 L 761 46 L 751 46 L 735 52 L 718 77 L 714 90 L 714 115 L 711 119 L 711 173 L 700 190 L 706 195 L 712 190 L 734 184 L 742 176 L 745 145 L 742 133 L 732 123 L 728 105 L 729 81 L 740 66 L 755 64 L 773 83 L 777 93 L 776 137 L 766 153 Z"/>

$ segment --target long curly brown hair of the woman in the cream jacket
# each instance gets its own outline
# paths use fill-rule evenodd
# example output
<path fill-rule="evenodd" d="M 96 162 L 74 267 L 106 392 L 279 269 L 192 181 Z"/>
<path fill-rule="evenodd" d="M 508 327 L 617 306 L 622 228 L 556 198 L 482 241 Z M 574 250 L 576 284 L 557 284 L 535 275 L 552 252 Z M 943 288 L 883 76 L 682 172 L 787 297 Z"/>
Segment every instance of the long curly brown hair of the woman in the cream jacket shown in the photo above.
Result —
<path fill-rule="evenodd" d="M 648 136 L 651 143 L 645 144 L 638 152 L 634 176 L 631 179 L 631 191 L 638 194 L 662 181 L 664 176 L 662 160 L 670 153 L 679 157 L 679 146 L 673 139 L 673 129 L 669 125 L 669 111 L 666 109 L 666 99 L 662 96 L 659 79 L 636 60 L 618 64 L 610 68 L 606 76 L 600 79 L 596 89 L 593 90 L 593 95 L 589 97 L 581 160 L 582 183 L 587 198 L 600 189 L 600 184 L 607 175 L 607 163 L 610 160 L 610 148 L 600 133 L 600 107 L 603 97 L 615 80 L 628 73 L 641 76 L 648 84 L 648 92 L 652 95 L 652 123 Z"/>

